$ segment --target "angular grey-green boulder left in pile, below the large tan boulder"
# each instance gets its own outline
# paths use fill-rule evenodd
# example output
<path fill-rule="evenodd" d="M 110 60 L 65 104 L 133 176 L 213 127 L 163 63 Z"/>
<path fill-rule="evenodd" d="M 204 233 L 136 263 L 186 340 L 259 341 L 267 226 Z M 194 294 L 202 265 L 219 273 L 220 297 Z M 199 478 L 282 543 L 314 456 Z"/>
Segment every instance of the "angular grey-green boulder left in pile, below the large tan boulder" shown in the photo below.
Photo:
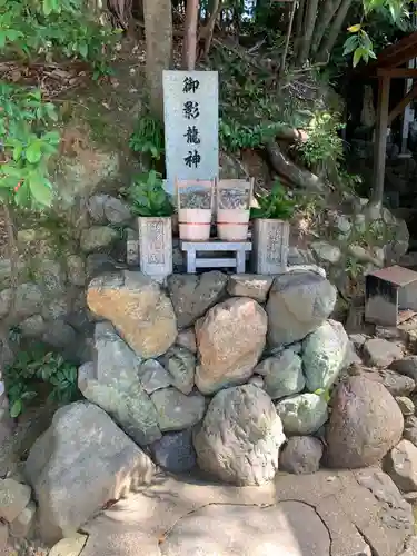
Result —
<path fill-rule="evenodd" d="M 140 359 L 116 334 L 110 322 L 98 322 L 95 361 L 85 364 L 78 385 L 137 444 L 146 446 L 161 437 L 158 414 L 139 379 Z"/>

